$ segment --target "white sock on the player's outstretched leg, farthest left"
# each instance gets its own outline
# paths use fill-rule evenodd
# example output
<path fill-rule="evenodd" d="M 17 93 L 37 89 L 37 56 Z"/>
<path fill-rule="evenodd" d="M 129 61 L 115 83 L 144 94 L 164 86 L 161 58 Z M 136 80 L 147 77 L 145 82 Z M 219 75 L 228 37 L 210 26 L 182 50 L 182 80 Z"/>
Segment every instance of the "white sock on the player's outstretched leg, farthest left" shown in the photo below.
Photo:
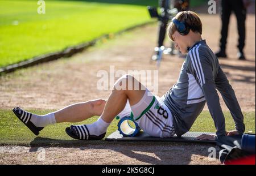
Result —
<path fill-rule="evenodd" d="M 49 124 L 56 123 L 54 113 L 49 113 L 49 114 L 46 114 L 46 115 L 32 114 L 30 121 L 32 123 L 34 123 L 34 125 L 37 126 L 37 127 L 46 127 Z"/>

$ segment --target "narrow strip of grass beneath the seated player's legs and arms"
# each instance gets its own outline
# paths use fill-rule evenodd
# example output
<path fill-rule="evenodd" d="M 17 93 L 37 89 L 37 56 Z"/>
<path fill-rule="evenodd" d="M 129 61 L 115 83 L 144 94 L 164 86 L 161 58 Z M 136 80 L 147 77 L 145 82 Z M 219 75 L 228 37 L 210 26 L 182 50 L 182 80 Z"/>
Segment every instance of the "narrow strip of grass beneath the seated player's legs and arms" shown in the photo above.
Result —
<path fill-rule="evenodd" d="M 51 110 L 31 110 L 33 113 L 46 114 Z M 243 113 L 246 126 L 245 132 L 255 133 L 255 112 Z M 234 130 L 234 122 L 229 112 L 224 112 L 226 118 L 226 130 Z M 15 117 L 11 110 L 0 110 L 0 145 L 81 145 L 84 141 L 73 140 L 65 133 L 65 127 L 71 124 L 92 123 L 97 117 L 87 119 L 81 123 L 59 123 L 49 125 L 40 132 L 39 136 L 32 134 L 28 128 Z M 106 136 L 117 130 L 117 120 L 108 128 Z M 196 119 L 190 131 L 215 132 L 212 117 L 208 111 L 203 111 Z M 98 143 L 99 141 L 90 141 Z"/>

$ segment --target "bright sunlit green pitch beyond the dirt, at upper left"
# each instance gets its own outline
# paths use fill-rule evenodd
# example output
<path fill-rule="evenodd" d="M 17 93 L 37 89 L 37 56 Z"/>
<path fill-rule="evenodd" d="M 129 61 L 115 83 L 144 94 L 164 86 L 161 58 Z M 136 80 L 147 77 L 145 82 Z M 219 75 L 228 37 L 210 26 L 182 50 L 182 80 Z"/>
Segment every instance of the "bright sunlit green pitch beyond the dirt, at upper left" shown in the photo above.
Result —
<path fill-rule="evenodd" d="M 46 14 L 38 14 L 35 0 L 0 0 L 0 67 L 148 22 L 147 5 L 158 1 L 46 1 Z"/>

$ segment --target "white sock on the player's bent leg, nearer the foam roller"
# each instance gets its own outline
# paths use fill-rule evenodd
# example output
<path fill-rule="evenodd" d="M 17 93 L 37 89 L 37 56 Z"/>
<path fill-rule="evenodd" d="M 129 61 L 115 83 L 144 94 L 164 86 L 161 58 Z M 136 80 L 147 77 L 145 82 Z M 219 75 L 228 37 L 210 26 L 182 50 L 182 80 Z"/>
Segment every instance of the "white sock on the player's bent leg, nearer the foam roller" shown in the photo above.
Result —
<path fill-rule="evenodd" d="M 100 136 L 106 132 L 107 128 L 109 127 L 110 123 L 105 122 L 101 117 L 98 118 L 98 121 L 92 124 L 86 124 L 90 135 Z"/>

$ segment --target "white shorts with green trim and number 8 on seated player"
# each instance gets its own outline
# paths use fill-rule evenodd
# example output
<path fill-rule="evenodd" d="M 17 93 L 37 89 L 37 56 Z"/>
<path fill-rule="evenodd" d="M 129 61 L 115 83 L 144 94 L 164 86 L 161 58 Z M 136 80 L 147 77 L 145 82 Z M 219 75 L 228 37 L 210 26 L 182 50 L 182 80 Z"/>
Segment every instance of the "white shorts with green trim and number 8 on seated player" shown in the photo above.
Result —
<path fill-rule="evenodd" d="M 130 106 L 127 101 L 125 109 L 118 114 L 119 117 L 128 115 L 150 136 L 170 138 L 175 135 L 171 111 L 160 97 L 152 95 L 148 89 L 137 104 Z"/>

